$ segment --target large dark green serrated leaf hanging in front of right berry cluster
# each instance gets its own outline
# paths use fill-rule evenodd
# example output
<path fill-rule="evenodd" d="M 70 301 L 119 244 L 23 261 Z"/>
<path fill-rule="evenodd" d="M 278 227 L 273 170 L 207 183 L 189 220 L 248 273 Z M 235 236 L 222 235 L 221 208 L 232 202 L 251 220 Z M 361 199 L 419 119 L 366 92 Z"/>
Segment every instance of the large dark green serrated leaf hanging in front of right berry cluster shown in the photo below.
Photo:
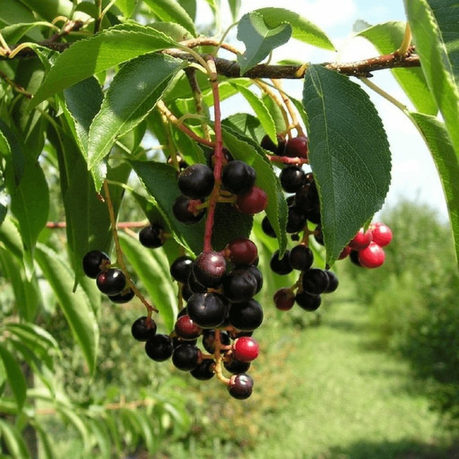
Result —
<path fill-rule="evenodd" d="M 303 104 L 309 117 L 309 160 L 319 191 L 329 265 L 382 207 L 390 151 L 367 93 L 348 77 L 311 65 Z"/>

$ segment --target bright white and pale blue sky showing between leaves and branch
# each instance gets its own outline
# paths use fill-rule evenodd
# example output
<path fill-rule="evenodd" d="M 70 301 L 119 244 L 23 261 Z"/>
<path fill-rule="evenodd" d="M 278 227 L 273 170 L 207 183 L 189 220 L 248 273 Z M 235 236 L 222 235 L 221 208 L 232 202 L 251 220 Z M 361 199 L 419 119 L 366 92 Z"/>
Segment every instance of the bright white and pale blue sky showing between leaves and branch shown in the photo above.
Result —
<path fill-rule="evenodd" d="M 354 22 L 363 19 L 370 24 L 377 24 L 406 20 L 403 0 L 242 0 L 241 3 L 242 14 L 264 7 L 295 11 L 319 26 L 337 49 L 337 52 L 324 51 L 291 39 L 274 50 L 272 62 L 289 58 L 312 63 L 352 62 L 370 58 L 378 55 L 378 52 L 367 40 L 353 37 Z M 206 22 L 206 14 L 210 13 L 204 7 L 197 17 Z M 223 10 L 222 18 L 224 30 L 231 24 L 231 16 Z M 225 20 L 227 23 L 224 23 Z M 236 39 L 236 29 L 228 34 L 228 40 L 244 49 L 244 44 Z M 357 82 L 356 79 L 354 81 Z M 389 70 L 375 72 L 372 81 L 409 108 L 414 108 Z M 301 99 L 301 81 L 285 82 L 284 89 Z M 392 180 L 383 210 L 386 206 L 395 206 L 400 199 L 408 198 L 429 204 L 442 219 L 447 219 L 445 198 L 436 167 L 418 131 L 398 108 L 370 89 L 364 87 L 364 90 L 369 93 L 380 114 L 392 153 Z M 242 98 L 225 101 L 222 110 L 225 116 L 242 110 L 251 112 Z"/>

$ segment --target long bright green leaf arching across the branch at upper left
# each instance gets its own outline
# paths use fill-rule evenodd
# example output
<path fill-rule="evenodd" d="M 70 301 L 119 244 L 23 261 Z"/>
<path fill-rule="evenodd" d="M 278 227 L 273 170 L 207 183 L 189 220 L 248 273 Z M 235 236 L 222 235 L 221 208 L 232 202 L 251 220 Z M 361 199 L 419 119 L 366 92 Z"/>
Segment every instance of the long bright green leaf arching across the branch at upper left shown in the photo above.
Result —
<path fill-rule="evenodd" d="M 139 55 L 174 47 L 163 33 L 134 24 L 122 24 L 79 40 L 58 56 L 30 108 L 69 86 Z"/>

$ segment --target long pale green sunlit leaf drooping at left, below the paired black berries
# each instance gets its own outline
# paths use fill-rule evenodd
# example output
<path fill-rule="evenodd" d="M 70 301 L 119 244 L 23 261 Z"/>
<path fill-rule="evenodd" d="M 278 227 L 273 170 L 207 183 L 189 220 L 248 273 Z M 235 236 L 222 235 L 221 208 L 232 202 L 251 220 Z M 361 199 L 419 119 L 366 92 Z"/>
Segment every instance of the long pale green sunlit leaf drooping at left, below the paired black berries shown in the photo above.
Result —
<path fill-rule="evenodd" d="M 58 298 L 75 341 L 80 346 L 90 373 L 94 373 L 99 329 L 91 304 L 81 288 L 72 293 L 74 273 L 68 261 L 42 244 L 37 245 L 35 258 Z"/>

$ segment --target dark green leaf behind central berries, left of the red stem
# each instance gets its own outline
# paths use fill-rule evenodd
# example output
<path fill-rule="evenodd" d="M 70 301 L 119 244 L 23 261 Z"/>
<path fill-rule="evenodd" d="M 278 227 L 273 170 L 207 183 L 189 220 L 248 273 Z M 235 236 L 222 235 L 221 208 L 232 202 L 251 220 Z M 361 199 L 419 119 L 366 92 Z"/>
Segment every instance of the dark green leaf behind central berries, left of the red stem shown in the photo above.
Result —
<path fill-rule="evenodd" d="M 180 223 L 172 215 L 174 201 L 182 193 L 177 185 L 177 171 L 162 162 L 130 161 L 140 181 L 151 197 L 154 197 L 174 239 L 195 255 L 202 252 L 204 218 L 197 224 Z"/>

